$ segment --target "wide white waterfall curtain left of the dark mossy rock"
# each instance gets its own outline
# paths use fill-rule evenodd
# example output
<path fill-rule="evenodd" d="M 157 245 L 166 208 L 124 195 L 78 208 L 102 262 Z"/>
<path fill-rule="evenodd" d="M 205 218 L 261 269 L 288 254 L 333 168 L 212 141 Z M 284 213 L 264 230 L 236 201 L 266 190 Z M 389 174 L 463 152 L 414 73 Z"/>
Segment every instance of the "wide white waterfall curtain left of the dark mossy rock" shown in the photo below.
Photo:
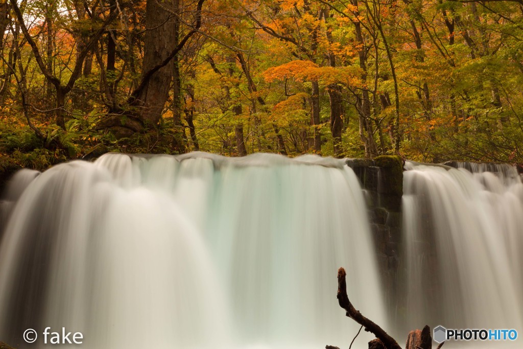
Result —
<path fill-rule="evenodd" d="M 358 326 L 337 305 L 340 266 L 355 306 L 388 329 L 342 160 L 106 154 L 28 182 L 0 245 L 11 345 L 65 327 L 87 348 L 347 347 Z"/>

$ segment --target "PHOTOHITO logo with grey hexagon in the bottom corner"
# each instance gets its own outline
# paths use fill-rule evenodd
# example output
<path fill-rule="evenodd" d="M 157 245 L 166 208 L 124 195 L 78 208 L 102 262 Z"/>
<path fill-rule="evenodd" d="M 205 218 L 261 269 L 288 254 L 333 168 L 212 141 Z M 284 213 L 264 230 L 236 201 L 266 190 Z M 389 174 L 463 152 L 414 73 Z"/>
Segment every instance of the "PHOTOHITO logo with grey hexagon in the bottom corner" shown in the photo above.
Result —
<path fill-rule="evenodd" d="M 452 329 L 447 330 L 439 325 L 434 328 L 433 339 L 441 343 L 443 341 L 515 341 L 518 331 L 514 329 Z"/>

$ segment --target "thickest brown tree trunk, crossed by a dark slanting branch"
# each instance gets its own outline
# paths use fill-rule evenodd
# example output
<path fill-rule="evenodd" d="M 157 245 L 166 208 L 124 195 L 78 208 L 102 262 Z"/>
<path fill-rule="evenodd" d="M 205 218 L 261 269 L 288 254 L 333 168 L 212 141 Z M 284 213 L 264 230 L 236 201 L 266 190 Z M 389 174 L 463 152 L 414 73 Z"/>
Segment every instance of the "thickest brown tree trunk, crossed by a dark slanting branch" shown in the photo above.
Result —
<path fill-rule="evenodd" d="M 149 72 L 161 64 L 176 48 L 177 17 L 170 15 L 164 7 L 174 8 L 175 0 L 158 3 L 147 0 L 145 18 L 145 41 L 142 72 Z M 140 90 L 133 106 L 144 126 L 155 126 L 162 116 L 173 77 L 173 60 L 154 72 Z"/>

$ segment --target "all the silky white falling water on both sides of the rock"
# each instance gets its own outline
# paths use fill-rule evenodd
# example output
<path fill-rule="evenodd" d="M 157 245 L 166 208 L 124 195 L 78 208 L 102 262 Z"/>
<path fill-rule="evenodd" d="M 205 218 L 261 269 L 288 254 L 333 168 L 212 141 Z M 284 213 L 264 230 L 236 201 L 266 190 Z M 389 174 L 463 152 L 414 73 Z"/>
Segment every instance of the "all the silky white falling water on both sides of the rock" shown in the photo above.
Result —
<path fill-rule="evenodd" d="M 405 165 L 397 285 L 381 285 L 343 160 L 106 154 L 23 170 L 0 207 L 0 340 L 45 347 L 43 329 L 65 327 L 86 348 L 347 348 L 359 327 L 337 304 L 340 266 L 400 344 L 425 324 L 523 335 L 521 178 L 458 167 Z"/>

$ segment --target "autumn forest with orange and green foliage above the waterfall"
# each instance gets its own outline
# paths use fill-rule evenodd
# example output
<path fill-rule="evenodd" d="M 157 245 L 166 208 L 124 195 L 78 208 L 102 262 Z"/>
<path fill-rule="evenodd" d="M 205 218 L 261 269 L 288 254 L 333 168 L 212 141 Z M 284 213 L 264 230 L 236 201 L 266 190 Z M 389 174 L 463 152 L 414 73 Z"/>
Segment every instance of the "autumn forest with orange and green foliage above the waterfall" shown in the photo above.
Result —
<path fill-rule="evenodd" d="M 3 0 L 0 168 L 106 151 L 523 162 L 523 1 Z"/>

